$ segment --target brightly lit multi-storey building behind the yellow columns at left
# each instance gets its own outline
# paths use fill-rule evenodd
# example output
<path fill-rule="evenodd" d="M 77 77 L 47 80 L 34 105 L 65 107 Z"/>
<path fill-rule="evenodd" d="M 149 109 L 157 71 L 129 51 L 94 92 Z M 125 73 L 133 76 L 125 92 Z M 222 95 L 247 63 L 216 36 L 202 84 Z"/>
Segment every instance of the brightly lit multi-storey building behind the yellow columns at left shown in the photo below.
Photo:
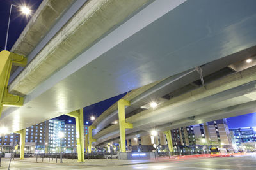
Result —
<path fill-rule="evenodd" d="M 60 138 L 60 132 L 63 132 L 63 138 Z M 85 134 L 88 134 L 88 125 L 84 125 Z M 12 133 L 4 136 L 4 153 L 11 152 L 12 141 L 19 143 L 20 134 Z M 0 138 L 1 142 L 2 138 Z M 65 124 L 64 120 L 52 119 L 26 128 L 25 153 L 56 153 L 60 152 L 61 146 L 64 152 L 77 152 L 76 125 L 72 124 L 71 120 Z"/>

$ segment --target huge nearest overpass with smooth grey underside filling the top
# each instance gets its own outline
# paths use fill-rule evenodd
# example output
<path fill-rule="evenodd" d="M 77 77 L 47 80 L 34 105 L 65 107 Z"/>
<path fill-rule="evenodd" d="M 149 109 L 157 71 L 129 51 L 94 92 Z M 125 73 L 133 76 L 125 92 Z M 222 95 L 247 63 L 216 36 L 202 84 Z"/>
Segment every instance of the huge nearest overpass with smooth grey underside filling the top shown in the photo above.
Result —
<path fill-rule="evenodd" d="M 8 84 L 23 106 L 4 108 L 0 124 L 20 131 L 164 78 L 198 76 L 192 69 L 215 60 L 252 57 L 254 6 L 253 0 L 45 0 L 12 48 L 28 60 Z"/>

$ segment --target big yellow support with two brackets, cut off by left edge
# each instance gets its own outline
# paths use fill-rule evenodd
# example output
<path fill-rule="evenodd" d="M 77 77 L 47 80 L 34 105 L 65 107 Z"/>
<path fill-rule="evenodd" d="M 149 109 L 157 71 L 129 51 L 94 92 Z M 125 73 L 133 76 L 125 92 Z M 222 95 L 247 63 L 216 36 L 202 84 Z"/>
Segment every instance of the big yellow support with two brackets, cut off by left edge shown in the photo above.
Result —
<path fill-rule="evenodd" d="M 27 59 L 8 51 L 0 52 L 0 117 L 3 106 L 17 107 L 23 105 L 23 97 L 15 96 L 8 92 L 8 81 L 12 69 L 15 66 L 26 66 Z"/>

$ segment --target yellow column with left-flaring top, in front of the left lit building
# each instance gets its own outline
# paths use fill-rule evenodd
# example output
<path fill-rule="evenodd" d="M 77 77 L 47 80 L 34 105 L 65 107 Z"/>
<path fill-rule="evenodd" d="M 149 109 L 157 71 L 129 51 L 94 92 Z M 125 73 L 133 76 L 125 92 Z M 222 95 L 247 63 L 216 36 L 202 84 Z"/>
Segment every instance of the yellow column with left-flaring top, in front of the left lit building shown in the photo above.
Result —
<path fill-rule="evenodd" d="M 76 118 L 77 162 L 84 162 L 84 112 L 83 108 L 66 115 Z"/>

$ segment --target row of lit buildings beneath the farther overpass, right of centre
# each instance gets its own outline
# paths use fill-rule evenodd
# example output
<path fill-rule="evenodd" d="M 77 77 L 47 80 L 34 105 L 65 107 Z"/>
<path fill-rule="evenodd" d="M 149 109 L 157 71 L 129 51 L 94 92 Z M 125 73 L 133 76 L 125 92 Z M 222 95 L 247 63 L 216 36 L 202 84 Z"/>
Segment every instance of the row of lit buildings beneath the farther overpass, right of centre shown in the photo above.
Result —
<path fill-rule="evenodd" d="M 174 152 L 197 152 L 197 150 L 205 150 L 206 146 L 208 148 L 211 146 L 232 148 L 232 138 L 226 119 L 180 127 L 170 131 Z M 127 151 L 130 152 L 151 152 L 156 150 L 156 145 L 159 152 L 168 151 L 167 139 L 163 132 L 158 132 L 157 136 L 154 136 L 154 141 L 150 134 L 126 140 Z"/>

